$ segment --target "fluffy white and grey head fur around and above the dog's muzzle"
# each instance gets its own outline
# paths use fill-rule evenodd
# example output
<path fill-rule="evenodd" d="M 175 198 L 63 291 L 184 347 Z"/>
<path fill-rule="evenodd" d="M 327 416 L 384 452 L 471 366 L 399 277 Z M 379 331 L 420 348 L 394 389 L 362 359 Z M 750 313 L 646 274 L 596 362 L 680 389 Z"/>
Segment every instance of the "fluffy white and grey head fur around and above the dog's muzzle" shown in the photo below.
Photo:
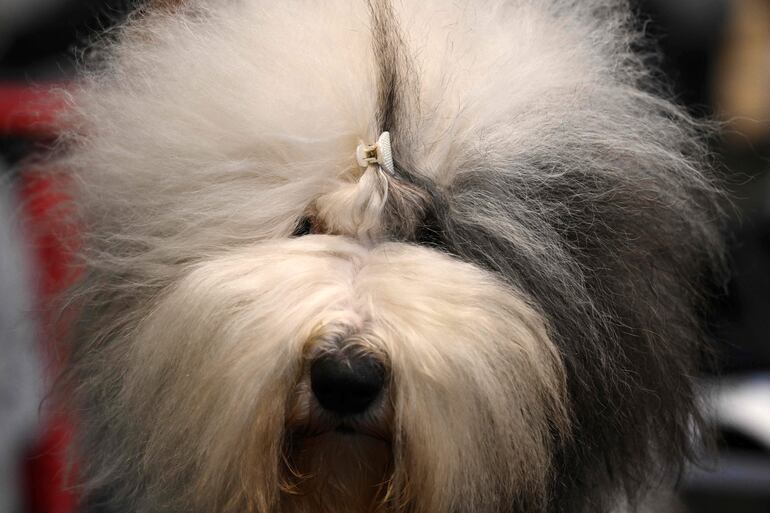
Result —
<path fill-rule="evenodd" d="M 93 387 L 82 400 L 114 408 L 89 355 L 119 353 L 112 341 L 191 270 L 310 216 L 374 251 L 416 244 L 470 264 L 542 316 L 572 427 L 568 440 L 558 419 L 540 434 L 553 445 L 546 497 L 514 494 L 519 507 L 605 511 L 676 467 L 695 420 L 697 280 L 721 259 L 719 195 L 698 127 L 650 92 L 636 43 L 622 0 L 136 14 L 73 93 L 57 163 L 86 232 L 87 336 L 71 364 Z M 383 131 L 395 177 L 356 165 Z M 83 443 L 115 446 L 107 418 L 85 420 Z M 123 472 L 102 456 L 87 470 L 97 492 Z"/>

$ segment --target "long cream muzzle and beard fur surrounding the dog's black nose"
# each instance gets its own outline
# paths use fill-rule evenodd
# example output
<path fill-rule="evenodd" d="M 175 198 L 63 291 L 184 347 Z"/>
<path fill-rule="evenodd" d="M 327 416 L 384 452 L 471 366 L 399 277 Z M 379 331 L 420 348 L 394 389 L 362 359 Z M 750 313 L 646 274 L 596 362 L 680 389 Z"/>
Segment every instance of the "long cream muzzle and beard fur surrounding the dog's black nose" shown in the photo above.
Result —
<path fill-rule="evenodd" d="M 388 372 L 345 420 L 308 385 L 340 338 Z M 124 443 L 150 504 L 174 511 L 501 511 L 544 495 L 566 428 L 540 315 L 405 244 L 308 236 L 212 257 L 154 305 L 125 365 Z"/>

